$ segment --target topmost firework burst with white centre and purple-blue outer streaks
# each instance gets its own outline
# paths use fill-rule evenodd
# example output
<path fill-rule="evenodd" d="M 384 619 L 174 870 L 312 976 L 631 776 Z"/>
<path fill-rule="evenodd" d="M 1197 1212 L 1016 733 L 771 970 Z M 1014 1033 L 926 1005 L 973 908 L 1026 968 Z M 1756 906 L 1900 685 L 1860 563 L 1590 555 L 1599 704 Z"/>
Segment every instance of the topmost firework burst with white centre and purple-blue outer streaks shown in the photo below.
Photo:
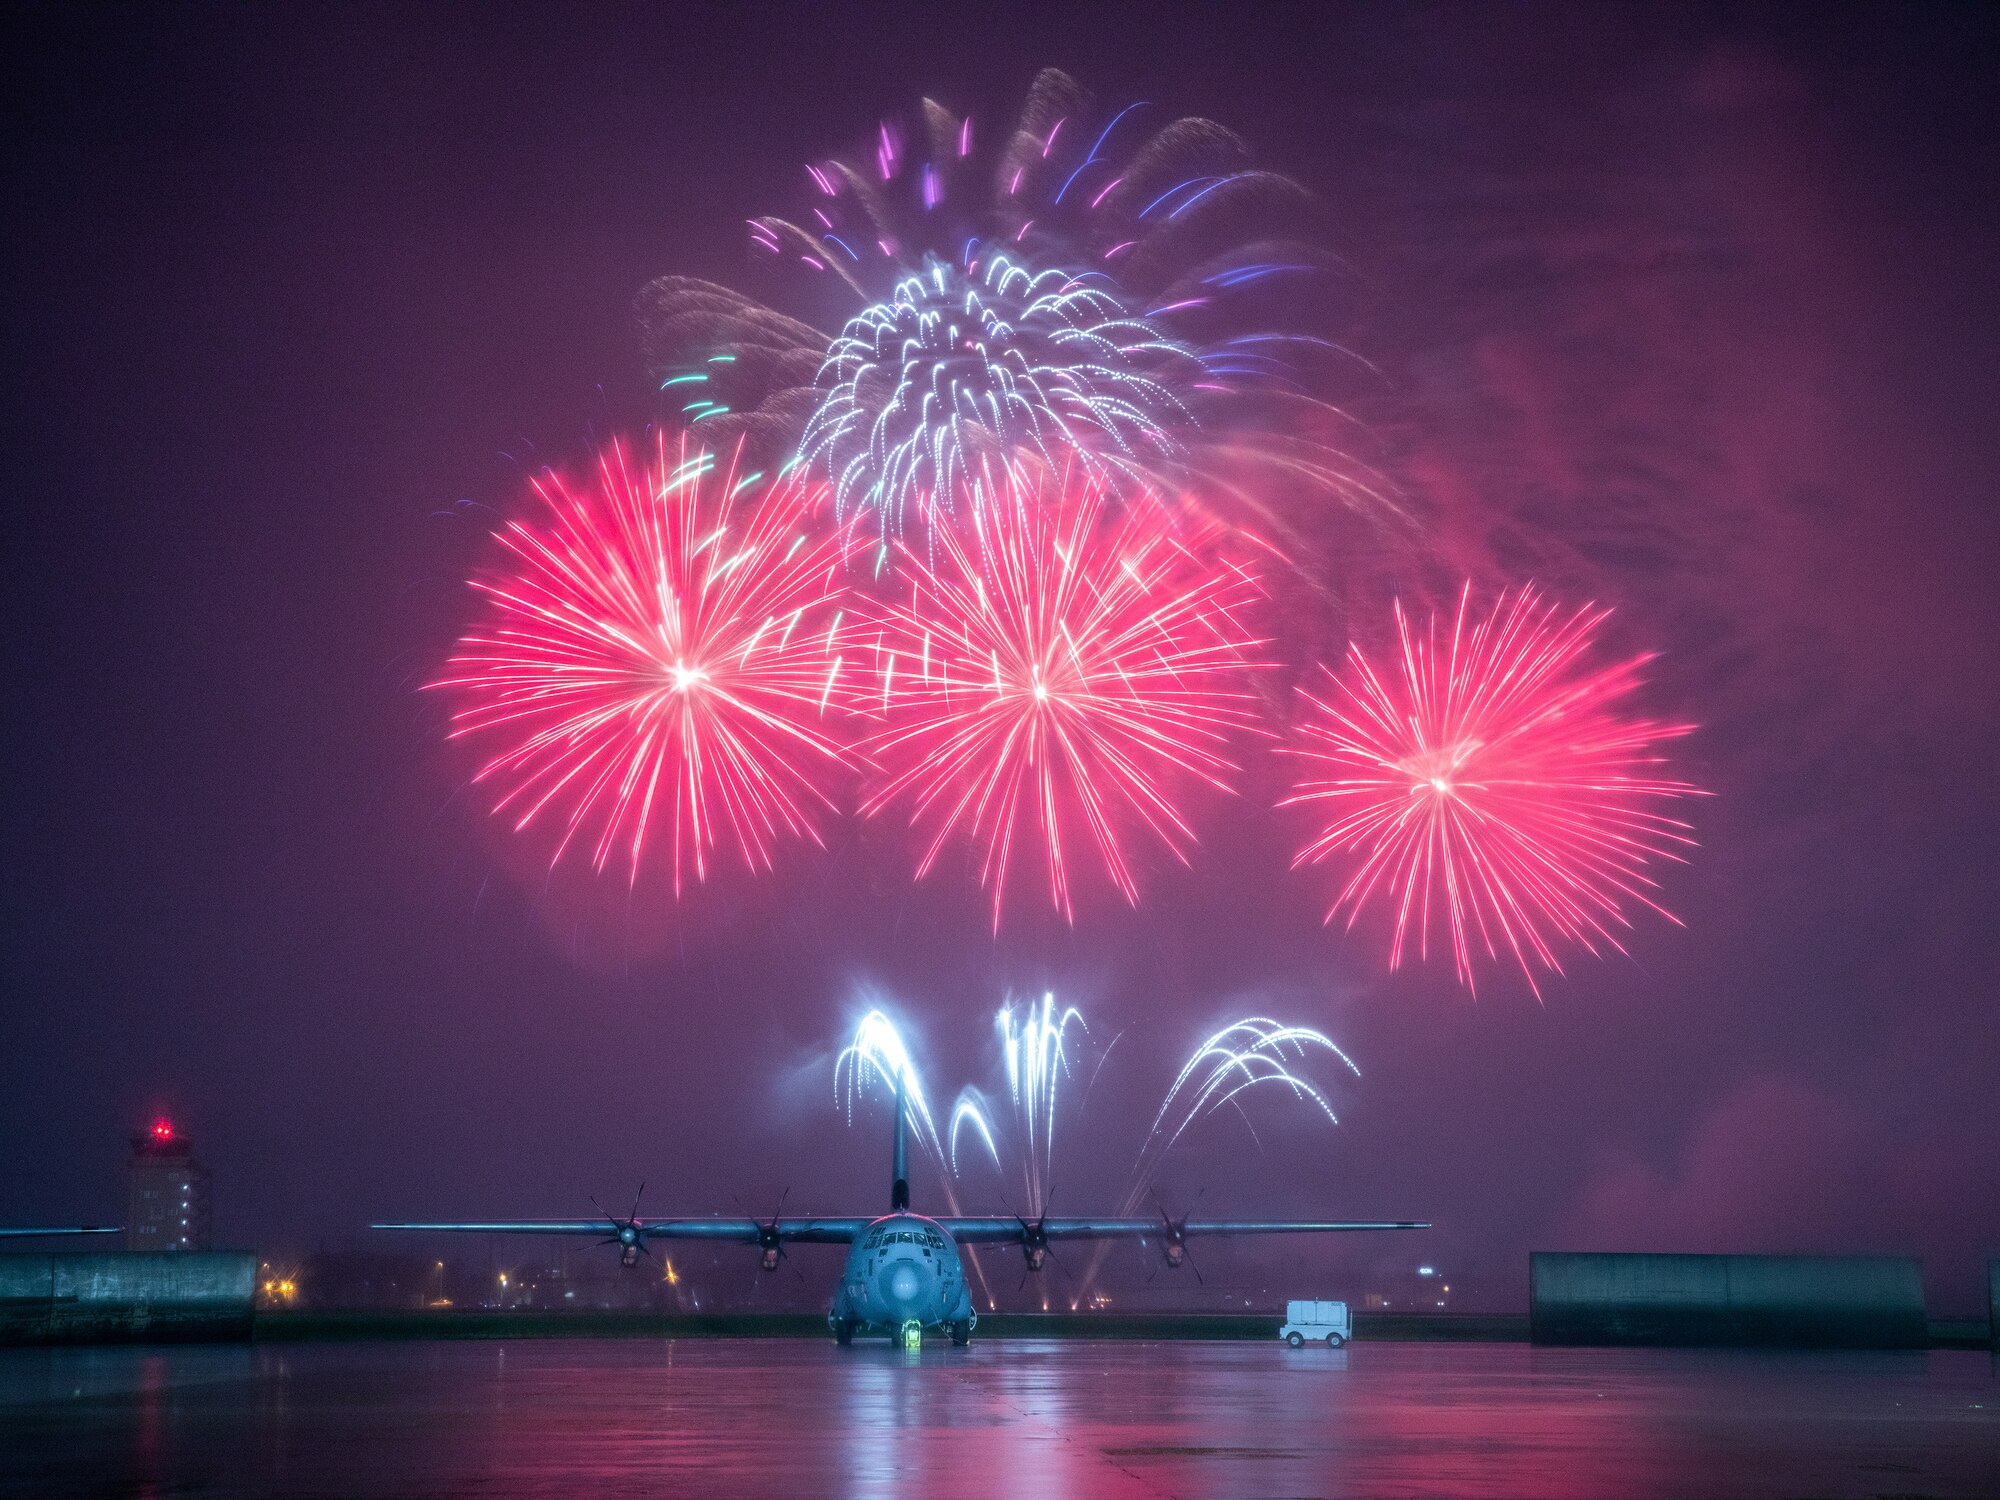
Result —
<path fill-rule="evenodd" d="M 1010 130 L 924 102 L 866 154 L 808 168 L 810 208 L 754 254 L 846 304 L 838 336 L 714 282 L 638 298 L 662 392 L 804 454 L 888 532 L 966 498 L 982 458 L 1082 462 L 1114 494 L 1230 502 L 1280 530 L 1270 484 L 1382 506 L 1320 390 L 1320 210 L 1212 120 L 1100 116 L 1044 70 Z"/>

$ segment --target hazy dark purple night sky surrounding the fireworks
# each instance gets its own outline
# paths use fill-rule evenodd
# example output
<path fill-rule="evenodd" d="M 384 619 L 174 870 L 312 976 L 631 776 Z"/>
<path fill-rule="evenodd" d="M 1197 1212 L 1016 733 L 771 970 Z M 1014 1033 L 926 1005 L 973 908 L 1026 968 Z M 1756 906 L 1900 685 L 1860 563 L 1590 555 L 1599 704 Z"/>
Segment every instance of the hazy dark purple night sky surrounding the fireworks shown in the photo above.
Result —
<path fill-rule="evenodd" d="M 1108 1206 L 1180 1054 L 1262 1010 L 1364 1078 L 1166 1174 L 1206 1210 L 1530 1248 L 2000 1254 L 1994 12 L 180 6 L 6 56 L 0 1220 L 120 1212 L 168 1112 L 266 1250 L 378 1214 L 882 1194 L 858 984 L 934 1088 L 1004 992 L 1122 1032 L 1058 1164 Z M 1382 972 L 1246 810 L 1138 914 L 994 942 L 888 830 L 688 910 L 522 878 L 416 688 L 524 470 L 650 416 L 632 294 L 920 94 L 1058 64 L 1328 206 L 1374 456 L 1440 566 L 1620 606 L 1716 792 L 1686 928 L 1538 1004 Z M 878 1124 L 870 1122 L 870 1124 Z M 920 1186 L 920 1194 L 924 1186 Z M 978 1188 L 970 1208 L 998 1208 Z M 1288 1252 L 1290 1254 L 1290 1252 Z M 1340 1260 L 1338 1254 L 1346 1254 Z M 1384 1254 L 1324 1262 L 1364 1270 Z M 1404 1256 L 1404 1250 L 1396 1252 Z M 1322 1262 L 1300 1262 L 1318 1266 Z"/>

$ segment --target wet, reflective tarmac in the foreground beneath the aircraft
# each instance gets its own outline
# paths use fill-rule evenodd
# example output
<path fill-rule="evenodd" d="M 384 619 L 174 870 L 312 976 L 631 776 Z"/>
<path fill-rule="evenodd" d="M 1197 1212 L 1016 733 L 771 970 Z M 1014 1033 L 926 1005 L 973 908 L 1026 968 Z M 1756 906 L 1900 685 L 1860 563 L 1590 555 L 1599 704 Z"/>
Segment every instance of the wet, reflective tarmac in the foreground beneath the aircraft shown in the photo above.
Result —
<path fill-rule="evenodd" d="M 0 1350 L 6 1496 L 2000 1496 L 1972 1352 Z"/>

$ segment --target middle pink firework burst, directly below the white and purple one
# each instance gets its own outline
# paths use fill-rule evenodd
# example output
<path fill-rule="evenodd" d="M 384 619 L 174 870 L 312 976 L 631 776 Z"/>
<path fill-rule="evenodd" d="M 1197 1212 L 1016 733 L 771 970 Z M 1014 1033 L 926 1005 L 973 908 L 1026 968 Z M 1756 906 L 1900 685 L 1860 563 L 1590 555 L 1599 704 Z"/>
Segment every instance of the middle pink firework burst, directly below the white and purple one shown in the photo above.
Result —
<path fill-rule="evenodd" d="M 920 878 L 954 836 L 974 842 L 998 930 L 1020 840 L 1040 840 L 1070 920 L 1078 846 L 1134 904 L 1132 832 L 1186 860 L 1186 788 L 1228 788 L 1228 744 L 1256 722 L 1244 614 L 1262 590 L 1218 540 L 1176 534 L 1158 504 L 1108 512 L 1072 472 L 940 522 L 930 562 L 902 548 L 908 596 L 878 646 L 888 728 L 870 746 L 888 780 L 868 810 L 908 804 L 928 826 Z"/>

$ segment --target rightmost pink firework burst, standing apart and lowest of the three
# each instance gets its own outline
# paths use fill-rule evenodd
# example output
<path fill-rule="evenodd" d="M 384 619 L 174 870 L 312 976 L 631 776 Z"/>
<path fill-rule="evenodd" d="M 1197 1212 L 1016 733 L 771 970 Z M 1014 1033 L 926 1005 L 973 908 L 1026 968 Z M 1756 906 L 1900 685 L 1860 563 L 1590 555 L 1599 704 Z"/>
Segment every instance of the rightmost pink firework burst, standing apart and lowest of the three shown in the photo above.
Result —
<path fill-rule="evenodd" d="M 1540 994 L 1534 966 L 1560 974 L 1560 946 L 1624 952 L 1628 906 L 1678 920 L 1646 868 L 1694 842 L 1660 806 L 1698 788 L 1666 780 L 1656 754 L 1692 726 L 1620 714 L 1650 658 L 1588 664 L 1610 610 L 1564 614 L 1532 588 L 1500 594 L 1484 620 L 1468 606 L 1470 588 L 1440 638 L 1436 616 L 1416 630 L 1398 604 L 1400 670 L 1378 672 L 1354 646 L 1344 674 L 1328 670 L 1326 700 L 1304 694 L 1316 714 L 1296 754 L 1324 770 L 1286 804 L 1330 822 L 1294 866 L 1358 856 L 1326 920 L 1346 910 L 1352 928 L 1386 894 L 1390 968 L 1412 926 L 1428 956 L 1442 918 L 1468 990 L 1474 962 L 1504 948 Z"/>

